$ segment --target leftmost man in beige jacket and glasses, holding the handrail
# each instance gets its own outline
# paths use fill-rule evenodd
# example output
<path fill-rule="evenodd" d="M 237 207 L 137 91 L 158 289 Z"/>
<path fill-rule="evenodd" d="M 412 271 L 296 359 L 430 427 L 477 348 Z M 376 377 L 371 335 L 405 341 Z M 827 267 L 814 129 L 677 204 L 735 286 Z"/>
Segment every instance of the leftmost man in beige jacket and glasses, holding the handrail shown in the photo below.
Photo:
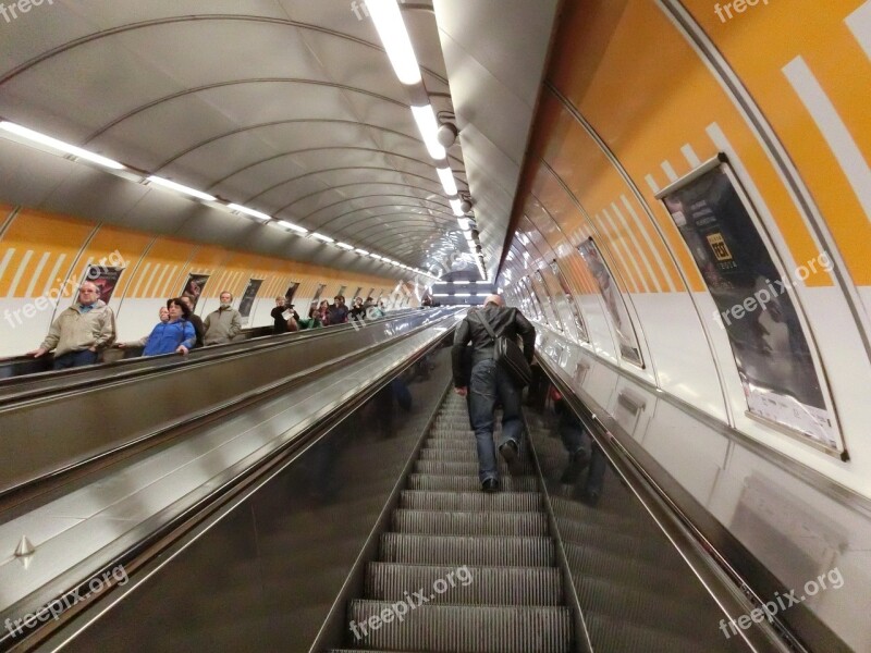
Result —
<path fill-rule="evenodd" d="M 46 340 L 28 356 L 39 358 L 54 349 L 54 369 L 94 365 L 100 352 L 115 340 L 115 316 L 100 299 L 97 284 L 86 281 L 78 286 L 77 300 L 51 324 Z"/>

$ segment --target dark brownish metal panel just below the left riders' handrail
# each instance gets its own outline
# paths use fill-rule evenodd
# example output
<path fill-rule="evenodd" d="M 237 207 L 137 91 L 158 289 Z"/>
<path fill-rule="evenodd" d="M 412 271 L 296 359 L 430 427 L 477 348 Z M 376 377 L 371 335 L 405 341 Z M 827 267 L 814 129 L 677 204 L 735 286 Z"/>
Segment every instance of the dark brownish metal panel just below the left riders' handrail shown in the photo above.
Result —
<path fill-rule="evenodd" d="M 242 346 L 226 358 L 174 365 L 163 373 L 112 380 L 79 392 L 0 408 L 0 493 L 154 433 L 207 415 L 245 395 L 334 364 L 452 311 L 415 311 L 363 329 L 324 330 L 279 346 Z M 311 343 L 317 346 L 311 346 Z"/>

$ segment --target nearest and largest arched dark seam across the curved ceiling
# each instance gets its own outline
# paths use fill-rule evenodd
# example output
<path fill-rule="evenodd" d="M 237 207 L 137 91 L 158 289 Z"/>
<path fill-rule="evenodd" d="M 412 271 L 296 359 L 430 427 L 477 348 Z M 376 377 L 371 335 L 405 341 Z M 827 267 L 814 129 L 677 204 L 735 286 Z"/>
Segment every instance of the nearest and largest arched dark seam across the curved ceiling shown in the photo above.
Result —
<path fill-rule="evenodd" d="M 49 59 L 57 57 L 68 50 L 72 50 L 77 48 L 78 46 L 89 44 L 102 38 L 107 38 L 110 36 L 115 36 L 118 34 L 124 34 L 126 32 L 133 32 L 136 29 L 144 29 L 148 27 L 159 27 L 162 25 L 173 25 L 176 23 L 188 23 L 188 22 L 205 22 L 205 21 L 240 21 L 240 22 L 255 22 L 255 23 L 266 23 L 266 24 L 278 24 L 278 25 L 285 25 L 289 27 L 295 27 L 299 29 L 309 29 L 312 32 L 318 32 L 320 34 L 326 34 L 328 36 L 332 36 L 335 38 L 341 38 L 353 44 L 364 46 L 367 48 L 371 48 L 372 50 L 378 50 L 380 52 L 384 52 L 387 56 L 387 51 L 381 46 L 378 46 L 371 41 L 367 41 L 366 39 L 352 36 L 349 34 L 345 34 L 343 32 L 338 32 L 335 29 L 328 29 L 327 27 L 321 27 L 319 25 L 311 25 L 310 23 L 302 23 L 299 21 L 293 21 L 290 19 L 275 19 L 270 16 L 255 16 L 255 15 L 245 15 L 245 14 L 200 14 L 200 15 L 184 15 L 184 16 L 169 16 L 164 19 L 152 19 L 150 21 L 140 21 L 138 23 L 128 23 L 126 25 L 119 25 L 116 27 L 110 27 L 109 29 L 102 29 L 97 33 L 88 34 L 86 36 L 78 37 L 76 39 L 66 41 L 63 45 L 57 46 L 51 50 L 47 50 L 37 57 L 33 57 L 32 59 L 27 60 L 26 62 L 15 66 L 11 71 L 4 73 L 0 77 L 0 86 L 9 82 L 10 79 L 16 77 L 21 73 L 29 70 L 30 67 L 42 63 Z M 445 86 L 447 86 L 447 79 L 439 75 L 437 72 L 426 67 L 420 66 L 420 70 L 426 72 L 431 77 L 436 78 L 437 81 L 441 82 Z"/>

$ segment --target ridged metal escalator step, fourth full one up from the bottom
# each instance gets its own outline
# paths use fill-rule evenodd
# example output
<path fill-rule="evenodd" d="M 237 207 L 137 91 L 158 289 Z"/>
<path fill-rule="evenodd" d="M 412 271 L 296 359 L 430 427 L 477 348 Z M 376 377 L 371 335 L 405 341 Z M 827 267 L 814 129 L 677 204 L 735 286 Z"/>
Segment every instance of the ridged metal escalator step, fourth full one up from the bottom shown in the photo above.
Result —
<path fill-rule="evenodd" d="M 434 535 L 545 537 L 545 513 L 463 513 L 443 510 L 394 510 L 393 530 Z"/>

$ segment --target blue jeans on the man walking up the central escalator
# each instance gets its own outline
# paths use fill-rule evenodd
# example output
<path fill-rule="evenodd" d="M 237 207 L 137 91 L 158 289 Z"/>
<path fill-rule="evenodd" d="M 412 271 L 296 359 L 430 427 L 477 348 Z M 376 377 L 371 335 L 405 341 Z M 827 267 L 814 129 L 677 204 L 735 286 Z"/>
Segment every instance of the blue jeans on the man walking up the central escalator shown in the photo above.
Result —
<path fill-rule="evenodd" d="M 502 405 L 502 438 L 499 445 L 513 440 L 520 445 L 524 431 L 520 391 L 494 360 L 481 360 L 471 368 L 469 383 L 469 421 L 478 446 L 478 478 L 495 479 L 496 451 L 493 444 L 493 412 Z"/>

